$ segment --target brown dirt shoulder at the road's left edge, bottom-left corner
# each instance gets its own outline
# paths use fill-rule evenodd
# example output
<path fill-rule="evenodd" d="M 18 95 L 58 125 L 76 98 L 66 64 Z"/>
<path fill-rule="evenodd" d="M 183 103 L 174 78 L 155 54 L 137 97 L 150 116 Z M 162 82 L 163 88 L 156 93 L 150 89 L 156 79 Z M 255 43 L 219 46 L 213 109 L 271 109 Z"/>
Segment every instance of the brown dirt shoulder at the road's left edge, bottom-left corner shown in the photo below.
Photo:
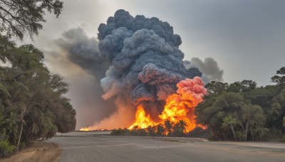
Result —
<path fill-rule="evenodd" d="M 58 161 L 61 155 L 61 147 L 58 144 L 37 141 L 15 153 L 9 158 L 0 159 L 4 162 L 39 162 Z"/>

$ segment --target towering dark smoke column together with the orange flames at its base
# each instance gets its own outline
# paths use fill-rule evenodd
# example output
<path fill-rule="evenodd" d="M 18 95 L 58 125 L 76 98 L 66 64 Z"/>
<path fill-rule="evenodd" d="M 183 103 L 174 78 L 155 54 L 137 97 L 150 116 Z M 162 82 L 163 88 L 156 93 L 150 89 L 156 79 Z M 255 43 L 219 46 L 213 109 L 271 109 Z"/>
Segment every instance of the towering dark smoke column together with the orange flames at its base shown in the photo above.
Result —
<path fill-rule="evenodd" d="M 99 57 L 110 64 L 100 80 L 102 97 L 115 101 L 118 110 L 105 121 L 81 130 L 145 129 L 167 120 L 185 121 L 185 131 L 195 129 L 194 109 L 207 90 L 200 78 L 202 72 L 185 68 L 184 53 L 179 49 L 182 41 L 172 26 L 155 17 L 133 17 L 118 10 L 98 31 Z"/>

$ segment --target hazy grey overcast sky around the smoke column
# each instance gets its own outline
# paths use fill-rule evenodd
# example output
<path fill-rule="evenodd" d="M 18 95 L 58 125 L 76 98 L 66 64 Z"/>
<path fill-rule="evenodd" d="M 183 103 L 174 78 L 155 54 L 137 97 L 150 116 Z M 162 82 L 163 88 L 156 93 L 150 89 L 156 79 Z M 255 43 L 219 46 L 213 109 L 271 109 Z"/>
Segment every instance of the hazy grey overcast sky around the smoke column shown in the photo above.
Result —
<path fill-rule="evenodd" d="M 224 82 L 254 80 L 258 86 L 269 85 L 276 70 L 285 66 L 285 1 L 63 0 L 63 3 L 58 18 L 47 13 L 47 22 L 38 36 L 19 44 L 33 43 L 43 50 L 48 68 L 63 75 L 71 85 L 67 97 L 77 110 L 77 129 L 109 117 L 115 109 L 100 111 L 102 107 L 93 99 L 94 82 L 98 80 L 71 63 L 64 54 L 64 45 L 58 45 L 58 41 L 67 39 L 63 33 L 74 28 L 83 30 L 84 39 L 96 39 L 100 23 L 106 23 L 118 9 L 170 23 L 182 38 L 180 50 L 185 53 L 185 60 L 213 58 L 224 71 Z"/>

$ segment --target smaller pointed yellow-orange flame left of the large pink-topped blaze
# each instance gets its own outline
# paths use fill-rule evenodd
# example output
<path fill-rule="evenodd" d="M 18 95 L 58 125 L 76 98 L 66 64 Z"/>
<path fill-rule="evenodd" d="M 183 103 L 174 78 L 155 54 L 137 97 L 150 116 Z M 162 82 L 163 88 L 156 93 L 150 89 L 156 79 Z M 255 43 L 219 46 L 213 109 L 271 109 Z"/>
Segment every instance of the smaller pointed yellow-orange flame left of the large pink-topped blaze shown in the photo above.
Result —
<path fill-rule="evenodd" d="M 137 112 L 135 113 L 135 122 L 133 125 L 129 127 L 129 129 L 133 129 L 134 126 L 138 126 L 141 129 L 147 128 L 147 126 L 155 126 L 155 121 L 150 119 L 150 115 L 145 116 L 145 109 L 143 109 L 142 105 L 138 106 Z"/>

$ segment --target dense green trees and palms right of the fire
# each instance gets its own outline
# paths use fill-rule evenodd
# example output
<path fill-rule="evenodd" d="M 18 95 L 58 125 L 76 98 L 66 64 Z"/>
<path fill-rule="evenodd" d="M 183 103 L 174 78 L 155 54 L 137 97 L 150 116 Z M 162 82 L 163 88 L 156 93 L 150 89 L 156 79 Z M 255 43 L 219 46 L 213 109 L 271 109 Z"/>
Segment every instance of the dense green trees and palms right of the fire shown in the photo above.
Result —
<path fill-rule="evenodd" d="M 285 67 L 271 81 L 257 87 L 252 80 L 210 82 L 209 95 L 195 109 L 197 124 L 207 126 L 212 139 L 262 141 L 285 133 Z M 285 141 L 285 136 L 282 141 Z"/>

